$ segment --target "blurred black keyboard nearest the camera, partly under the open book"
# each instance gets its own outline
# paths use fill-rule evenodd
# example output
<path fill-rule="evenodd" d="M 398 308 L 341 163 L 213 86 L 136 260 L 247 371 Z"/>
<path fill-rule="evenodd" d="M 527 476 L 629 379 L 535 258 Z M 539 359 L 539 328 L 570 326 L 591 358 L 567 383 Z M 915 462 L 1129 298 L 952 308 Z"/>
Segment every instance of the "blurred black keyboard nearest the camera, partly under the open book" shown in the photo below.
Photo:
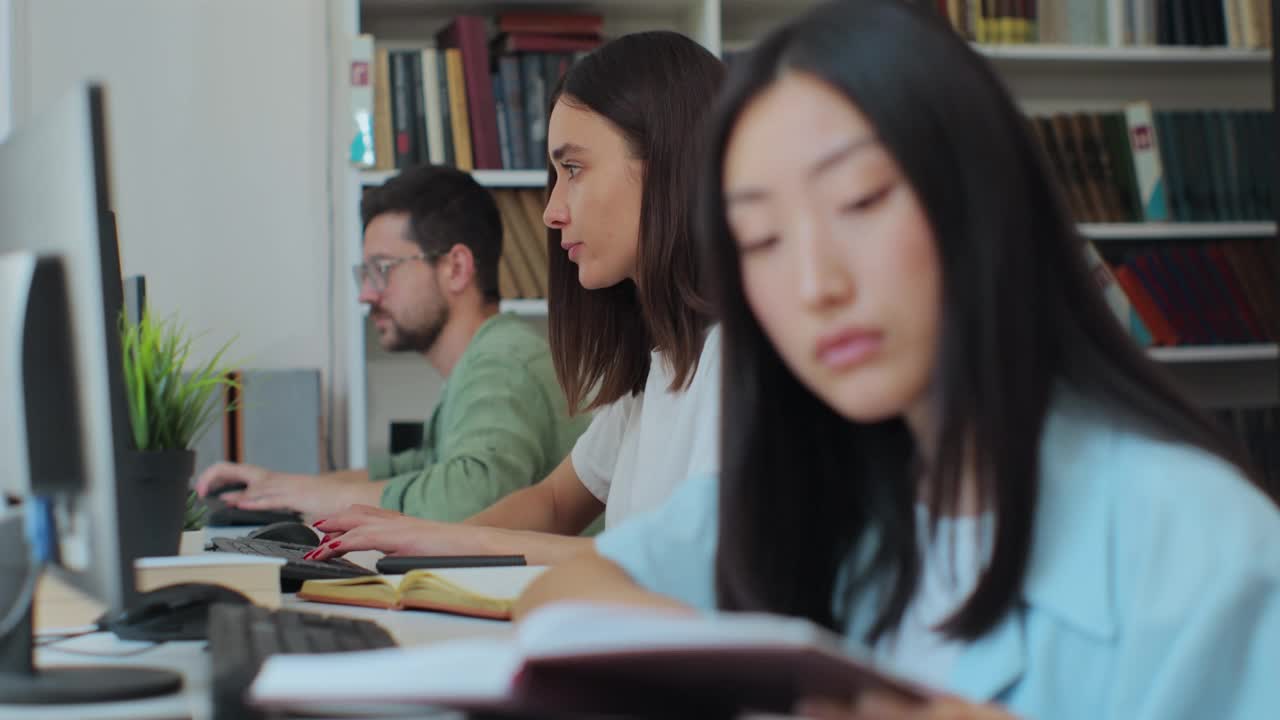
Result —
<path fill-rule="evenodd" d="M 371 620 L 216 603 L 209 611 L 214 720 L 261 717 L 244 705 L 244 692 L 273 655 L 394 646 L 394 638 Z"/>

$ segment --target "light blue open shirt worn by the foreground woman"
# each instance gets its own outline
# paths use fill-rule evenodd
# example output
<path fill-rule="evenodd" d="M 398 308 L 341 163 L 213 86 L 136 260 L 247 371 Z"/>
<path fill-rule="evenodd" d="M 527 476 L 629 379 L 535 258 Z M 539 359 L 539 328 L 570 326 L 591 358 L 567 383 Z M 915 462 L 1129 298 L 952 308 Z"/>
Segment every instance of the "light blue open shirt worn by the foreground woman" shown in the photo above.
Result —
<path fill-rule="evenodd" d="M 596 548 L 712 610 L 716 515 L 716 479 L 690 479 Z M 847 614 L 850 647 L 872 594 Z M 1280 717 L 1280 511 L 1216 456 L 1060 393 L 1021 602 L 964 647 L 945 689 L 1039 720 Z"/>

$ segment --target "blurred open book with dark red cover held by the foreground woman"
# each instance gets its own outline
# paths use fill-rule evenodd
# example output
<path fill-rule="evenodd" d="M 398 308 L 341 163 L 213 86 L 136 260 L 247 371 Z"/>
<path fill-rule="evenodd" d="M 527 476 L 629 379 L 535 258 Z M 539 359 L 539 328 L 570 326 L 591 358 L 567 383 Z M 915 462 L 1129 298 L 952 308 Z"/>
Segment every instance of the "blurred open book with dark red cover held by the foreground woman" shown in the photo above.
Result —
<path fill-rule="evenodd" d="M 710 716 L 788 711 L 804 697 L 849 700 L 867 687 L 931 693 L 873 669 L 805 620 L 558 605 L 530 615 L 511 638 L 275 656 L 250 697 L 296 711 L 384 703 Z"/>

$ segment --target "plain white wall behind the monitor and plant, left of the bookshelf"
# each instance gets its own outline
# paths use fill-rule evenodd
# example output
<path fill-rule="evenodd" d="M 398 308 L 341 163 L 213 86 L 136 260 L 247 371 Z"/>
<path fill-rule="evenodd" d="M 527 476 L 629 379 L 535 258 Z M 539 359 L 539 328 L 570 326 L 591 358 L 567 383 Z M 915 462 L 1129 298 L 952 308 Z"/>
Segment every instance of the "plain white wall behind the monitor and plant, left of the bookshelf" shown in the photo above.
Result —
<path fill-rule="evenodd" d="M 238 336 L 246 365 L 332 373 L 328 305 L 351 282 L 328 279 L 328 4 L 10 1 L 26 13 L 15 118 L 106 82 L 122 264 L 152 307 L 207 333 L 201 356 Z"/>

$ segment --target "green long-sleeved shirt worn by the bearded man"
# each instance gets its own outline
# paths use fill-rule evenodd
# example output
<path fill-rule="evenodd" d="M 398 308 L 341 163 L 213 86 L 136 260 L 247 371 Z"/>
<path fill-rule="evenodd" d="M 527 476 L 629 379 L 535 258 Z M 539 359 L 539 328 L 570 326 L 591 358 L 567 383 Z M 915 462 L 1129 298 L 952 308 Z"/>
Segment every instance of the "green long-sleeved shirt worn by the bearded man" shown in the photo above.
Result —
<path fill-rule="evenodd" d="M 476 331 L 449 374 L 422 447 L 371 464 L 389 479 L 381 506 L 457 521 L 545 478 L 590 418 L 570 418 L 550 348 L 534 328 L 498 314 Z"/>

